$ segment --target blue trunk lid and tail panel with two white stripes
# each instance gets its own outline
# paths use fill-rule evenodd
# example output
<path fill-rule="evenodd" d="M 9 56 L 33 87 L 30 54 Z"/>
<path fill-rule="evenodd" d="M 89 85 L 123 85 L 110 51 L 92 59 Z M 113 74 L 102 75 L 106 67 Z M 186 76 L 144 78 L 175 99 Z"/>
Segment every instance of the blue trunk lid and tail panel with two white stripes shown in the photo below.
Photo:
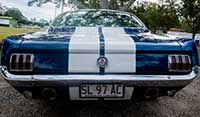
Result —
<path fill-rule="evenodd" d="M 146 69 L 150 67 L 151 73 L 162 67 L 165 69 L 160 73 L 167 73 L 168 54 L 182 52 L 177 40 L 113 27 L 76 27 L 24 37 L 22 50 L 36 53 L 34 72 L 39 74 L 135 74 L 150 73 Z M 100 57 L 107 60 L 103 67 L 98 65 Z"/>

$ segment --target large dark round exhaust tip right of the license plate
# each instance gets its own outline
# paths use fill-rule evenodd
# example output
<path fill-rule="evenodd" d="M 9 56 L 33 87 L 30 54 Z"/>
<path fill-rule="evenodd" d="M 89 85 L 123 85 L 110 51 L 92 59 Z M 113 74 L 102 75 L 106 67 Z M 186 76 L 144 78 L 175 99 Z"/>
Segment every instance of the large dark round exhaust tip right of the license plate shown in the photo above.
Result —
<path fill-rule="evenodd" d="M 145 92 L 144 92 L 144 97 L 146 99 L 151 99 L 151 98 L 155 98 L 159 95 L 159 89 L 158 88 L 148 88 Z"/>

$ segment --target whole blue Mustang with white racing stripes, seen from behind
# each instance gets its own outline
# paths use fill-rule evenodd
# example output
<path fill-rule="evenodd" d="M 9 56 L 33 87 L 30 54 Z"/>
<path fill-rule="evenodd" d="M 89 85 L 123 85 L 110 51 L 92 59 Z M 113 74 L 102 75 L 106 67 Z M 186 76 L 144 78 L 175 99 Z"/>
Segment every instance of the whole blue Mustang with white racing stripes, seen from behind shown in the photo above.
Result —
<path fill-rule="evenodd" d="M 113 10 L 59 15 L 46 32 L 4 39 L 1 75 L 26 98 L 130 100 L 173 96 L 198 74 L 192 39 L 151 34 Z"/>

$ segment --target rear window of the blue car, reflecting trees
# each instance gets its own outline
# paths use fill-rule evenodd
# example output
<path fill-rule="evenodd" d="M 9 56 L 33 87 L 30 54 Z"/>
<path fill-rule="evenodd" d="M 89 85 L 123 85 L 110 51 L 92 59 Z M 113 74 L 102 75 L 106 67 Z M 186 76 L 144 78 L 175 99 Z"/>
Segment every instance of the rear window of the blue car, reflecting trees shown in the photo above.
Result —
<path fill-rule="evenodd" d="M 54 20 L 52 26 L 145 27 L 137 17 L 128 13 L 99 10 L 64 13 Z"/>

